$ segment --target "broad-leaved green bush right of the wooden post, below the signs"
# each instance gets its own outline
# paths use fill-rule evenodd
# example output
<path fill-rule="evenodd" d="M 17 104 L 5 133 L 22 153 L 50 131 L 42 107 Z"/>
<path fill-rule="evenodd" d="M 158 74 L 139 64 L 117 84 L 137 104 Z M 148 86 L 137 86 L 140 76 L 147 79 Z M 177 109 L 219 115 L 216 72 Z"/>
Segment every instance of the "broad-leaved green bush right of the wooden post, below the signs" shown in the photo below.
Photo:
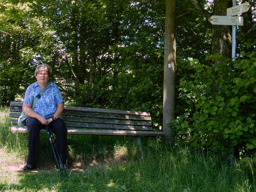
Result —
<path fill-rule="evenodd" d="M 172 124 L 177 138 L 229 152 L 256 148 L 255 56 L 251 49 L 241 52 L 235 62 L 218 55 L 207 56 L 206 64 L 190 59 L 194 73 L 180 82 L 180 97 L 186 97 L 190 112 Z"/>

